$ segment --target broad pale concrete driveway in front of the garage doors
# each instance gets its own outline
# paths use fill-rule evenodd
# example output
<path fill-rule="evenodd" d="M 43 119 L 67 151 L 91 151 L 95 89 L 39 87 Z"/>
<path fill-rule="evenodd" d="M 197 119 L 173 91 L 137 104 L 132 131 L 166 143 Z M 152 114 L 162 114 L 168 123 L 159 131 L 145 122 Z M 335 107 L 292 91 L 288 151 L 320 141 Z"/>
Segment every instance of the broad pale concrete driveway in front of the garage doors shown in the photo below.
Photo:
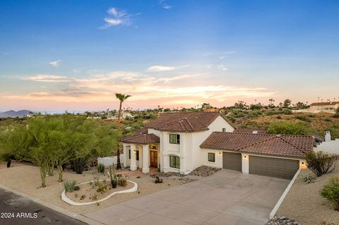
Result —
<path fill-rule="evenodd" d="M 208 178 L 85 214 L 104 224 L 263 225 L 290 181 L 222 169 Z"/>

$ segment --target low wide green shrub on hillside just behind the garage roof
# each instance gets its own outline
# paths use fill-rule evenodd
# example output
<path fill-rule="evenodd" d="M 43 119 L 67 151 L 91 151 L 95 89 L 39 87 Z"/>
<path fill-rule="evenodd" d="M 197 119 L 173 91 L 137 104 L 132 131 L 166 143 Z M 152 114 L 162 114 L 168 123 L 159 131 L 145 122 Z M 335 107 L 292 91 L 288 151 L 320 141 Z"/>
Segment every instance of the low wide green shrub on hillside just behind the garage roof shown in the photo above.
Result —
<path fill-rule="evenodd" d="M 307 135 L 311 133 L 311 127 L 304 122 L 286 123 L 283 121 L 276 121 L 270 123 L 267 132 L 282 135 Z"/>

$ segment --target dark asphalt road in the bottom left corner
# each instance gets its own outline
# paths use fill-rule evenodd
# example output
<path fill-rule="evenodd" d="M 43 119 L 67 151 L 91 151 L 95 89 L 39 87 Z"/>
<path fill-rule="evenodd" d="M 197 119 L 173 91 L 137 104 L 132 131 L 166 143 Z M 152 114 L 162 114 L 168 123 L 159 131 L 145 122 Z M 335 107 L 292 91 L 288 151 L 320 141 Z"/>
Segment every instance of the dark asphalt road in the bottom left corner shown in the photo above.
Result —
<path fill-rule="evenodd" d="M 4 217 L 12 217 L 10 219 Z M 86 225 L 85 223 L 55 212 L 25 197 L 0 188 L 1 225 Z"/>

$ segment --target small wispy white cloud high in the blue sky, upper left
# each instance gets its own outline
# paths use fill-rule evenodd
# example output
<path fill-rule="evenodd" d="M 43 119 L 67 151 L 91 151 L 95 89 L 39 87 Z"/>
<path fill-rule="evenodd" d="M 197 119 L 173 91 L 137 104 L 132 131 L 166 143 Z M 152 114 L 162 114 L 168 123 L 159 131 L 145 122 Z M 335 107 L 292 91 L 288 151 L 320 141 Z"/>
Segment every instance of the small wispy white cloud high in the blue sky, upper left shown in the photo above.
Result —
<path fill-rule="evenodd" d="M 101 28 L 110 28 L 110 27 L 115 27 L 119 25 L 131 25 L 131 16 L 129 13 L 126 11 L 119 11 L 118 8 L 109 8 L 107 11 L 109 16 L 104 18 L 105 25 L 103 25 Z M 133 16 L 138 16 L 140 13 L 137 13 L 136 15 Z"/>

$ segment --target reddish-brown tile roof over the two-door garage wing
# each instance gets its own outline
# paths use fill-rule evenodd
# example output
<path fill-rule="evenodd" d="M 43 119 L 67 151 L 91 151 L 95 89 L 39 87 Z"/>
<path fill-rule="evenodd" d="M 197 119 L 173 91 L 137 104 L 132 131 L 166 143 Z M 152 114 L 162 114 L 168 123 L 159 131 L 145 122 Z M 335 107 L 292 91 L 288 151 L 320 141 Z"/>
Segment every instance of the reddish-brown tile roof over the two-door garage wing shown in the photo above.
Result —
<path fill-rule="evenodd" d="M 314 138 L 302 135 L 213 132 L 200 147 L 304 158 L 307 152 L 313 150 Z"/>

